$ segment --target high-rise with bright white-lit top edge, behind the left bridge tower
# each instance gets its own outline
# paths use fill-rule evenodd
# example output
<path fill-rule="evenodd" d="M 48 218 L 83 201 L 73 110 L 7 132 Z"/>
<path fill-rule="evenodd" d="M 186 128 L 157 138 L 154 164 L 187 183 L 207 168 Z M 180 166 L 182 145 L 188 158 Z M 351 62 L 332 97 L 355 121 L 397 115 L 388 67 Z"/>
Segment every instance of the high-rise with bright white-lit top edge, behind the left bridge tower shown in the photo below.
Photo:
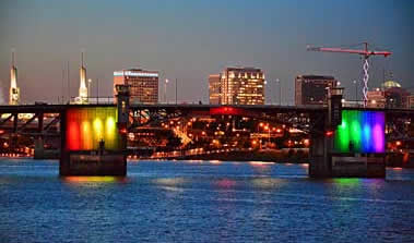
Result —
<path fill-rule="evenodd" d="M 131 104 L 156 104 L 158 102 L 158 72 L 142 69 L 129 69 L 114 72 L 115 85 L 130 86 Z"/>

